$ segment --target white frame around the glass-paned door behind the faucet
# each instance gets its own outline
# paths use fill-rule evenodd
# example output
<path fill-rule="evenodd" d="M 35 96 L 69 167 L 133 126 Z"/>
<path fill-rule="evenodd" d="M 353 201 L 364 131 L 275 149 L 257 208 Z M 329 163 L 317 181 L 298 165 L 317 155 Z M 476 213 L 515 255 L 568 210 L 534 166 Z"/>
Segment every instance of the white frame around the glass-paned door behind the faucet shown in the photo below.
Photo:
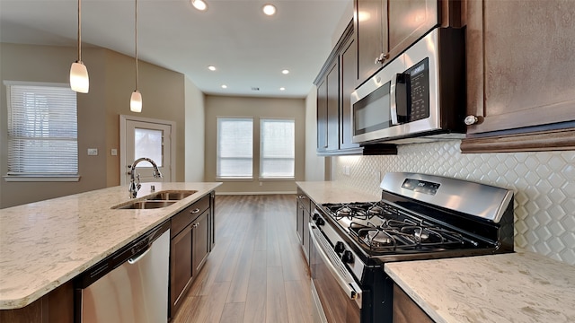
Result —
<path fill-rule="evenodd" d="M 155 118 L 143 118 L 136 116 L 119 115 L 119 185 L 128 184 L 124 172 L 126 171 L 126 166 L 128 161 L 126 161 L 126 122 L 127 121 L 137 121 L 146 122 L 156 125 L 164 125 L 171 127 L 171 137 L 170 137 L 170 181 L 176 181 L 176 123 L 170 120 L 162 120 Z"/>

